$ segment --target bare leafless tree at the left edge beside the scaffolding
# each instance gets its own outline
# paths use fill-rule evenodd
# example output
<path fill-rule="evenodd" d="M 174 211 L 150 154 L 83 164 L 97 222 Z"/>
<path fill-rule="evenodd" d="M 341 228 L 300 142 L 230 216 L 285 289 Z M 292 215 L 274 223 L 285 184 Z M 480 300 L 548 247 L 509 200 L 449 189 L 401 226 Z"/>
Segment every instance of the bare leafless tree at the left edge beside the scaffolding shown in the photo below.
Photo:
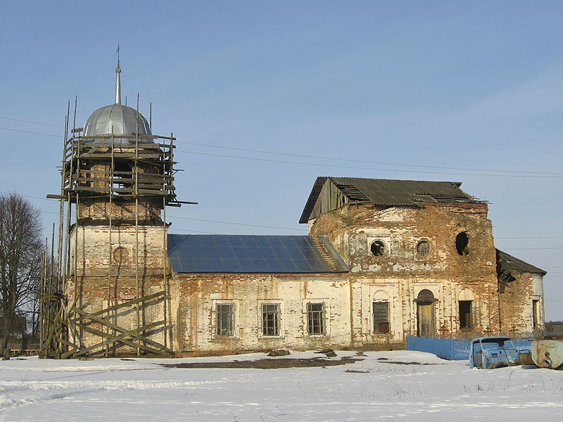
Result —
<path fill-rule="evenodd" d="M 25 314 L 37 295 L 41 250 L 39 210 L 15 193 L 0 196 L 0 352 L 8 357 L 17 316 Z"/>

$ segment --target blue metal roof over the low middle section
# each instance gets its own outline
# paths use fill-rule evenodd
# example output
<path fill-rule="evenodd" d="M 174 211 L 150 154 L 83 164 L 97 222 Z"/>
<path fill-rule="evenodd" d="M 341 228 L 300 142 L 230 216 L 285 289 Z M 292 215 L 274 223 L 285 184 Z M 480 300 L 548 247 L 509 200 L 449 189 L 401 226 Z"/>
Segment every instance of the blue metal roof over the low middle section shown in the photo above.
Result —
<path fill-rule="evenodd" d="M 329 250 L 329 255 L 334 252 Z M 338 260 L 333 260 L 333 269 L 310 236 L 169 234 L 168 259 L 178 273 L 348 271 Z"/>

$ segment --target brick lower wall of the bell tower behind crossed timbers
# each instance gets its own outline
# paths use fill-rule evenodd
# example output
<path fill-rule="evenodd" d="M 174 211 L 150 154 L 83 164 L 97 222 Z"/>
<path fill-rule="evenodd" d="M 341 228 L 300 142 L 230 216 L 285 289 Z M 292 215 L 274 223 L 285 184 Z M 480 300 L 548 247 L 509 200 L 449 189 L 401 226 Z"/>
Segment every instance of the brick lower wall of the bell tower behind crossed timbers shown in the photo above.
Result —
<path fill-rule="evenodd" d="M 78 233 L 77 239 L 76 233 Z M 164 274 L 165 271 L 166 274 L 170 271 L 165 256 L 166 231 L 163 226 L 139 226 L 138 238 L 139 255 L 136 260 L 137 233 L 134 226 L 112 226 L 111 246 L 109 226 L 79 225 L 77 230 L 75 226 L 70 238 L 72 268 L 65 285 L 70 304 L 77 298 L 77 306 L 82 307 L 85 312 L 93 313 L 108 306 L 136 299 L 137 284 L 139 297 L 164 291 Z M 77 271 L 74 270 L 75 267 Z M 170 298 L 166 300 L 170 312 Z M 156 321 L 163 321 L 164 311 L 164 299 L 160 298 L 139 305 L 139 321 L 137 321 L 137 309 L 132 306 L 112 312 L 111 322 L 127 330 L 133 330 L 139 325 L 146 326 Z M 167 316 L 167 320 L 170 321 L 170 315 Z M 89 326 L 102 331 L 101 324 Z M 144 335 L 163 344 L 165 330 L 160 326 Z M 84 347 L 101 341 L 99 335 L 86 330 L 78 336 Z M 118 352 L 132 352 L 132 349 L 120 347 Z"/>

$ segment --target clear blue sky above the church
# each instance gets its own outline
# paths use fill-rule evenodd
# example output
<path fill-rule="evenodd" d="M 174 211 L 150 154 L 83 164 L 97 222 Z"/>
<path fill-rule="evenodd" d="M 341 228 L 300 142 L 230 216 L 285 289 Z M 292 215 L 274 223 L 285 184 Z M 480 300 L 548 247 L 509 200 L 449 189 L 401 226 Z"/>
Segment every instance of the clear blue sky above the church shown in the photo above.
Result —
<path fill-rule="evenodd" d="M 563 320 L 562 2 L 3 9 L 0 191 L 46 227 L 68 100 L 77 127 L 113 102 L 119 43 L 122 98 L 177 137 L 177 193 L 199 203 L 168 211 L 172 232 L 306 234 L 320 175 L 462 181 L 497 247 L 549 271 L 546 319 Z"/>

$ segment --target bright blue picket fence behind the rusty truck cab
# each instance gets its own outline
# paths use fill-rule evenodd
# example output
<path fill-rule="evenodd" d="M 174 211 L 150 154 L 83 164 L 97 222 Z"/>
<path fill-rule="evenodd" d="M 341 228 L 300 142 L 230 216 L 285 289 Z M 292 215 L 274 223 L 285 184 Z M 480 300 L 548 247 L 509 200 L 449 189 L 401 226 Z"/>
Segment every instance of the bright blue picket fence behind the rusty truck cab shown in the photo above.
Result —
<path fill-rule="evenodd" d="M 453 338 L 426 338 L 407 335 L 407 350 L 434 353 L 443 359 L 469 359 L 469 343 L 467 338 L 455 340 Z M 518 350 L 530 349 L 530 340 L 526 338 L 512 339 Z"/>

